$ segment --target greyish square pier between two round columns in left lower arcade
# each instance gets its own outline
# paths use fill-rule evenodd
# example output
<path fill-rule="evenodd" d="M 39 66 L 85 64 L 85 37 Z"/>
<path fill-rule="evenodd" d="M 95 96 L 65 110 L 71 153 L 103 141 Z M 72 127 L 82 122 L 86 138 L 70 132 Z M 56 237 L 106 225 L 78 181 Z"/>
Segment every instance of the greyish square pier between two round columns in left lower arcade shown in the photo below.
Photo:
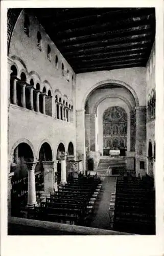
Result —
<path fill-rule="evenodd" d="M 42 164 L 44 168 L 44 192 L 46 194 L 54 193 L 54 162 L 44 161 Z"/>

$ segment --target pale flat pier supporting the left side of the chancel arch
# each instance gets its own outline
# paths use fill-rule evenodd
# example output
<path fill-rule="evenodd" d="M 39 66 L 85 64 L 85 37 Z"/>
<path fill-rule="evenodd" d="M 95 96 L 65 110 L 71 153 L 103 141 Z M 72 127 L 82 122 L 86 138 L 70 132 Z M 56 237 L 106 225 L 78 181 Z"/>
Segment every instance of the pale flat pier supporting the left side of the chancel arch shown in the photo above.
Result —
<path fill-rule="evenodd" d="M 85 153 L 85 110 L 76 111 L 76 150 L 83 162 L 83 172 L 86 170 Z"/>

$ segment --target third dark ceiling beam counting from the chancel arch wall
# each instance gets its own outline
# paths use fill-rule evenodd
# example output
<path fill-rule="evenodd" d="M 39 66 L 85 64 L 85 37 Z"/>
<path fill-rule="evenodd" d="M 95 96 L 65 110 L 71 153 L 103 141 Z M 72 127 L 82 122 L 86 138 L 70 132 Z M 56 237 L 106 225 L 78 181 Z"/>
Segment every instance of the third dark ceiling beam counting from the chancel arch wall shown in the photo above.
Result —
<path fill-rule="evenodd" d="M 127 54 L 127 55 L 118 55 L 118 56 L 113 56 L 113 57 L 105 57 L 105 60 L 117 60 L 117 59 L 128 59 L 131 57 L 139 57 L 139 56 L 144 56 L 146 55 L 145 52 L 142 53 L 134 53 L 134 54 Z M 146 56 L 145 56 L 146 57 Z M 91 62 L 100 62 L 103 61 L 104 58 L 91 58 L 91 59 L 84 59 L 84 60 L 80 60 L 80 63 L 83 64 L 87 64 L 87 63 L 91 63 Z M 77 58 L 77 60 L 73 61 L 73 65 L 75 65 L 76 63 L 79 63 L 79 58 Z"/>

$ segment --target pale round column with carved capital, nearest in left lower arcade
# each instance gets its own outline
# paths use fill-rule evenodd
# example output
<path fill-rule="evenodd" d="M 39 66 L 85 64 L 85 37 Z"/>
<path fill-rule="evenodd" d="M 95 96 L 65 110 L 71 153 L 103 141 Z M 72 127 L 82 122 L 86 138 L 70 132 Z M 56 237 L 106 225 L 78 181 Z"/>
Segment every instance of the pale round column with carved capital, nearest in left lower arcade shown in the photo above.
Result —
<path fill-rule="evenodd" d="M 35 189 L 35 167 L 36 163 L 26 163 L 28 166 L 28 204 L 27 207 L 33 208 L 36 202 L 36 189 Z"/>

